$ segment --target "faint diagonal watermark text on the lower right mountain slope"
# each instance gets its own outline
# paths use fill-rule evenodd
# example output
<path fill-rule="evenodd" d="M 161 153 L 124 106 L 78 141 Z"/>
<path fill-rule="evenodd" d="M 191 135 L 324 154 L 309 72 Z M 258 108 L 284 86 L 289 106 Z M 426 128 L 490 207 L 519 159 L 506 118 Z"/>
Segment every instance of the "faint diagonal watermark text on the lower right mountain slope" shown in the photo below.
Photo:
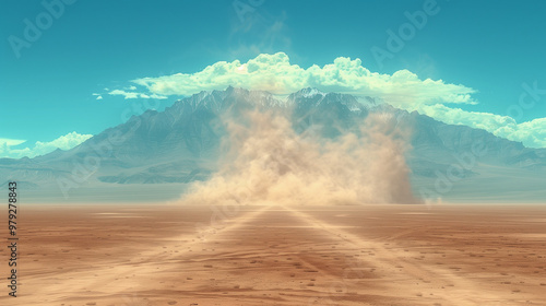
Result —
<path fill-rule="evenodd" d="M 451 191 L 453 186 L 466 177 L 465 173 L 477 166 L 480 157 L 487 154 L 487 146 L 483 141 L 475 141 L 466 152 L 454 155 L 455 163 L 452 163 L 444 172 L 436 170 L 435 190 L 420 188 L 419 193 L 427 205 L 441 200 L 441 196 Z"/>

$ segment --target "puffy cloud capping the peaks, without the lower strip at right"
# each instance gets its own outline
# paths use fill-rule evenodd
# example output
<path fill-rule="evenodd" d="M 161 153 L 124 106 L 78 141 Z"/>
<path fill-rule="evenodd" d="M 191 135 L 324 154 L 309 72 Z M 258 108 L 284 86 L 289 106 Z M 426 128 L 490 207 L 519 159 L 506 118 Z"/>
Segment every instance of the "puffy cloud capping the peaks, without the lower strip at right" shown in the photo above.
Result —
<path fill-rule="evenodd" d="M 390 74 L 370 72 L 360 59 L 339 57 L 333 63 L 302 68 L 292 64 L 284 52 L 262 54 L 241 63 L 218 61 L 195 73 L 176 73 L 133 80 L 158 95 L 190 95 L 200 91 L 224 90 L 228 85 L 287 95 L 302 87 L 327 92 L 379 96 L 394 106 L 405 104 L 475 104 L 471 87 L 442 80 L 420 80 L 400 70 Z"/>

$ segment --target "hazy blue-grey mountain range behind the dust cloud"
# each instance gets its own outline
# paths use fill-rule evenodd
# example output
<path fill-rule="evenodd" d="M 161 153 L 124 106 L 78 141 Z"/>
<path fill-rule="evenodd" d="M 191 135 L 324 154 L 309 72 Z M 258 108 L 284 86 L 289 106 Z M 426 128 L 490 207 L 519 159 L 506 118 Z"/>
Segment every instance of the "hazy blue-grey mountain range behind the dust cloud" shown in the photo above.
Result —
<path fill-rule="evenodd" d="M 284 111 L 297 132 L 320 126 L 324 137 L 354 128 L 369 114 L 387 113 L 412 127 L 413 150 L 407 163 L 415 193 L 455 201 L 546 202 L 546 149 L 529 149 L 484 130 L 446 125 L 371 97 L 316 89 L 302 89 L 286 99 L 235 87 L 201 92 L 164 111 L 133 116 L 69 151 L 35 158 L 0 158 L 0 174 L 26 185 L 34 201 L 93 198 L 96 190 L 107 190 L 105 198 L 116 190 L 119 197 L 147 192 L 154 198 L 150 192 L 162 188 L 165 191 L 159 198 L 171 199 L 189 183 L 204 180 L 216 170 L 226 134 L 219 117 L 254 106 Z"/>

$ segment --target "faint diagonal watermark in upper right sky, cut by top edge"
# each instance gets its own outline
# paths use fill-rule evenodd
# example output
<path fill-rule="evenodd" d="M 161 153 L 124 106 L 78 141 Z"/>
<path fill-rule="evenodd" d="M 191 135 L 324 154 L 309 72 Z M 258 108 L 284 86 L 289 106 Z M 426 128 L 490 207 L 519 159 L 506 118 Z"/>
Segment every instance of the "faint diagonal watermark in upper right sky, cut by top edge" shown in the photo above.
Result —
<path fill-rule="evenodd" d="M 449 1 L 449 0 L 446 0 Z M 371 55 L 376 59 L 379 68 L 383 68 L 383 61 L 385 59 L 393 59 L 394 54 L 397 54 L 404 49 L 407 42 L 412 40 L 417 31 L 422 31 L 428 23 L 430 16 L 437 15 L 440 12 L 440 7 L 436 0 L 425 0 L 423 2 L 422 10 L 417 10 L 413 13 L 405 11 L 404 15 L 407 22 L 401 24 L 397 32 L 391 28 L 387 30 L 387 42 L 385 48 L 378 46 L 371 47 Z"/>

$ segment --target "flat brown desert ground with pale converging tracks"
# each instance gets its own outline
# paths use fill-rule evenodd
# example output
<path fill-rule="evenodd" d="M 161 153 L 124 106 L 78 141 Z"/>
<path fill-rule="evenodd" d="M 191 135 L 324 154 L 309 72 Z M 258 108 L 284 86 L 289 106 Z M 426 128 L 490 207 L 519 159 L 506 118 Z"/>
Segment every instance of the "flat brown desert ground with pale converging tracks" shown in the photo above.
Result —
<path fill-rule="evenodd" d="M 546 305 L 546 205 L 36 205 L 17 222 L 19 297 L 5 243 L 0 305 Z"/>

